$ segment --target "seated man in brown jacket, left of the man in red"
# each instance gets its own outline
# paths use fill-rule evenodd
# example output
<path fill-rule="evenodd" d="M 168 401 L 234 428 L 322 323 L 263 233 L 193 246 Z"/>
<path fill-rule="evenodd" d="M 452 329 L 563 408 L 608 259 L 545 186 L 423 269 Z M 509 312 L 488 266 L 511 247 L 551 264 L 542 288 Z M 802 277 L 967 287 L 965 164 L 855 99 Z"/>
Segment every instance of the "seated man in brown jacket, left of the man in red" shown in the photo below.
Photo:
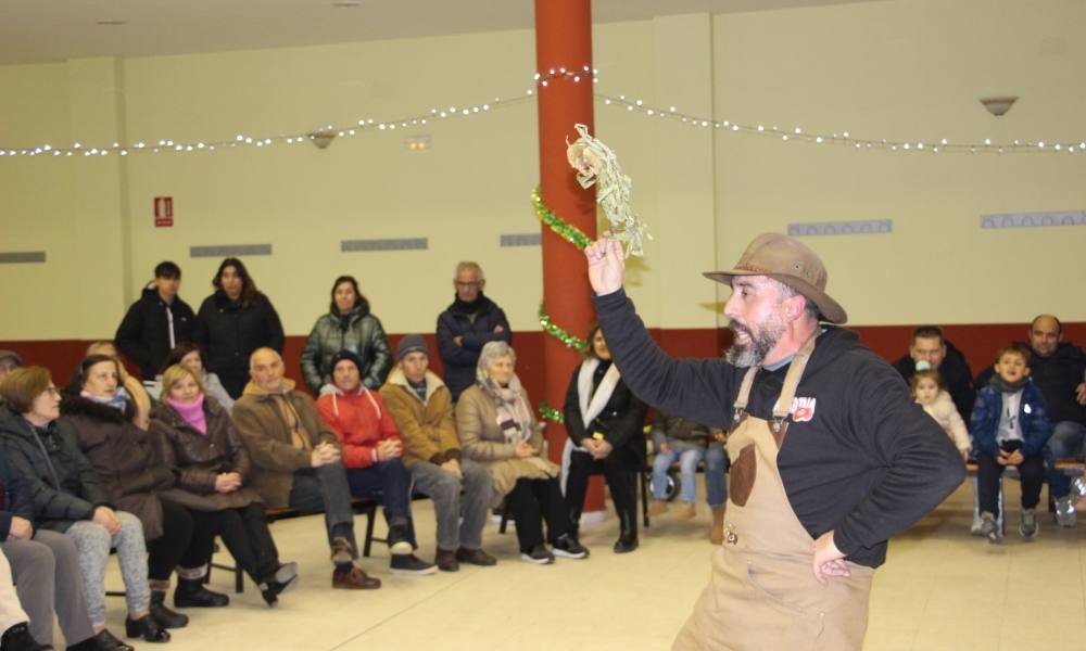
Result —
<path fill-rule="evenodd" d="M 253 462 L 253 489 L 268 508 L 324 512 L 334 564 L 332 588 L 381 587 L 353 562 L 358 545 L 339 439 L 320 420 L 313 398 L 294 391 L 294 381 L 283 376 L 277 352 L 257 348 L 250 367 L 252 380 L 231 420 Z"/>

